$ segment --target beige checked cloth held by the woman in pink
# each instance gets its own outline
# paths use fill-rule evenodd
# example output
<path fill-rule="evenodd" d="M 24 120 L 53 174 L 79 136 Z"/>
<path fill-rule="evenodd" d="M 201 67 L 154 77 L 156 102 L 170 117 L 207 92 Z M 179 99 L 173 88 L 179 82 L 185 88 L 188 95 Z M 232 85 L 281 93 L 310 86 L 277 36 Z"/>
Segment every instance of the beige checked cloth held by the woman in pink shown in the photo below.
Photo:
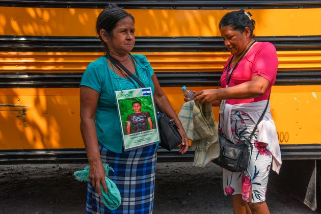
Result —
<path fill-rule="evenodd" d="M 193 166 L 204 167 L 220 154 L 218 130 L 212 105 L 198 101 L 185 102 L 178 114 L 186 135 L 195 149 Z"/>

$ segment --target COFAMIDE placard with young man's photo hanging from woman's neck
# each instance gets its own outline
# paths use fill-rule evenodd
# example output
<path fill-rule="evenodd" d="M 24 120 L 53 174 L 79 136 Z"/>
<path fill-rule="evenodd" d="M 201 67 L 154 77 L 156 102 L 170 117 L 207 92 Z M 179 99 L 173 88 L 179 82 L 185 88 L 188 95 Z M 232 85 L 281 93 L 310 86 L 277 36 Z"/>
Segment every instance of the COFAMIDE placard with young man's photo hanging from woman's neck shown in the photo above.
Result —
<path fill-rule="evenodd" d="M 159 141 L 151 88 L 116 91 L 124 151 Z"/>

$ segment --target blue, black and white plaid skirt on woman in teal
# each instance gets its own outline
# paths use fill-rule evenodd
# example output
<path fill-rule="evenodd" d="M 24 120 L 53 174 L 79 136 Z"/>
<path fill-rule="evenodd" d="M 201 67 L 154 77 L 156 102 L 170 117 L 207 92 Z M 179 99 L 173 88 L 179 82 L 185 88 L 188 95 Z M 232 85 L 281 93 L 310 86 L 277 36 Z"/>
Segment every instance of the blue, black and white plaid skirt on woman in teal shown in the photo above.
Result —
<path fill-rule="evenodd" d="M 155 187 L 155 144 L 122 153 L 112 152 L 99 145 L 103 163 L 114 169 L 109 171 L 121 195 L 116 210 L 106 208 L 88 182 L 86 213 L 152 213 Z"/>

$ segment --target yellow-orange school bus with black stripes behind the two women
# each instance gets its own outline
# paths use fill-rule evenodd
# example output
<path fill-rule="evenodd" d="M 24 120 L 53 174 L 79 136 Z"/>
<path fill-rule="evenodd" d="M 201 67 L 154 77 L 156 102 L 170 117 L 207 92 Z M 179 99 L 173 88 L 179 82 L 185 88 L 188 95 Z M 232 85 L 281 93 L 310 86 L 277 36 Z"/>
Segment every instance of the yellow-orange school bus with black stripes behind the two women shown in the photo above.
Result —
<path fill-rule="evenodd" d="M 146 55 L 178 113 L 180 88 L 218 85 L 230 53 L 218 23 L 250 11 L 257 41 L 277 48 L 271 94 L 284 164 L 280 181 L 316 209 L 321 170 L 321 1 L 113 1 L 136 19 L 134 53 Z M 79 82 L 102 56 L 95 20 L 105 1 L 0 1 L 0 164 L 86 162 Z M 218 118 L 218 109 L 213 108 Z M 158 161 L 193 151 L 160 149 Z M 300 177 L 300 179 L 295 179 Z M 284 185 L 286 183 L 286 185 Z M 291 186 L 303 186 L 291 190 Z M 300 188 L 298 188 L 300 189 Z"/>

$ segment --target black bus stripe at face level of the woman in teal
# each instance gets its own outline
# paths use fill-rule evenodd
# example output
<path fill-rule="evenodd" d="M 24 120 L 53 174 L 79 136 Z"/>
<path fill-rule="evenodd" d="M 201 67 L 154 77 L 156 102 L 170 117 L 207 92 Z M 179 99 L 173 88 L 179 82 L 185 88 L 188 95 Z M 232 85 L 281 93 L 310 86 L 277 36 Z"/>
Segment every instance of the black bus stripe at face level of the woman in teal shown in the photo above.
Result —
<path fill-rule="evenodd" d="M 321 50 L 321 36 L 256 37 L 277 50 Z M 97 37 L 0 36 L 2 51 L 103 51 Z M 134 52 L 227 51 L 221 37 L 136 37 Z"/>

